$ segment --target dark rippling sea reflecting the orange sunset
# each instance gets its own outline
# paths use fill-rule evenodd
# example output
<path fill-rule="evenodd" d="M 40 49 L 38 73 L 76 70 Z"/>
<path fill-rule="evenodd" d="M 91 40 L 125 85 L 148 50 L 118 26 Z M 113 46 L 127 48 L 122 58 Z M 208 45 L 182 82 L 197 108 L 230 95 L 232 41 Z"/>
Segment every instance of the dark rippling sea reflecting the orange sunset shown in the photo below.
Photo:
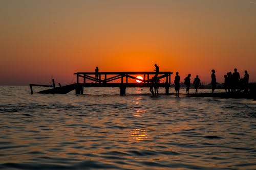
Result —
<path fill-rule="evenodd" d="M 164 92 L 0 86 L 0 169 L 256 169 L 256 101 Z"/>

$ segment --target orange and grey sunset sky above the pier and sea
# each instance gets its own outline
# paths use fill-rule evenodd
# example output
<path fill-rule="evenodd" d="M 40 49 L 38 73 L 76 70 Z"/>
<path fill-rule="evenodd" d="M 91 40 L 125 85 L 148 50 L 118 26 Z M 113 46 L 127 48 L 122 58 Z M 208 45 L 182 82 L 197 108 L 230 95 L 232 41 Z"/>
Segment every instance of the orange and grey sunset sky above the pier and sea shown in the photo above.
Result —
<path fill-rule="evenodd" d="M 180 72 L 256 82 L 256 0 L 1 0 L 0 85 L 74 83 L 74 72 Z"/>

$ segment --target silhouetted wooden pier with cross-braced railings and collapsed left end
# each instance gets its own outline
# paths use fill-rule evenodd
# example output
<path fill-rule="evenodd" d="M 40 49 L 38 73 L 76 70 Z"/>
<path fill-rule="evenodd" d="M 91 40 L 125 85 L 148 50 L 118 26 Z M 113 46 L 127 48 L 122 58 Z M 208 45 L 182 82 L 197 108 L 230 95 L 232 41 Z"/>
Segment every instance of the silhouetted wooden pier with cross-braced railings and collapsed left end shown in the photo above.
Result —
<path fill-rule="evenodd" d="M 68 93 L 75 90 L 76 94 L 83 94 L 84 88 L 88 87 L 119 87 L 120 94 L 124 95 L 126 87 L 150 87 L 152 78 L 155 76 L 156 72 L 98 72 L 96 77 L 95 72 L 75 72 L 76 83 L 55 87 L 48 85 L 36 85 L 30 84 L 31 94 L 33 94 L 32 86 L 45 86 L 53 87 L 51 89 L 39 91 L 39 93 Z M 165 94 L 169 94 L 170 87 L 170 75 L 173 72 L 159 72 L 158 73 L 158 83 L 159 87 L 165 87 Z M 142 79 L 137 78 L 141 76 Z M 140 83 L 136 82 L 141 81 Z M 54 81 L 53 81 L 54 84 Z"/>

